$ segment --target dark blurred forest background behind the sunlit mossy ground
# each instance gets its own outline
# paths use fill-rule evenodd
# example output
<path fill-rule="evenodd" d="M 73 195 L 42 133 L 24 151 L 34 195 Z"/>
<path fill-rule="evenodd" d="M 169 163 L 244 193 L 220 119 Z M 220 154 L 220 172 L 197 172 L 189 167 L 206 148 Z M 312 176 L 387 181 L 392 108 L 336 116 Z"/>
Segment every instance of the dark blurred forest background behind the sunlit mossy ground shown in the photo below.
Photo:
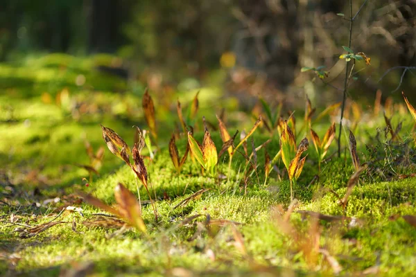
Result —
<path fill-rule="evenodd" d="M 377 89 L 383 98 L 412 91 L 413 72 L 402 76 L 406 69 L 394 67 L 416 66 L 416 0 L 352 2 L 353 13 L 365 2 L 352 49 L 371 57 L 371 65 L 357 62 L 350 96 L 372 102 Z M 1 86 L 15 77 L 7 66 L 43 59 L 62 69 L 89 57 L 85 70 L 125 81 L 119 91 L 216 86 L 243 108 L 258 96 L 291 104 L 305 92 L 324 104 L 342 97 L 345 60 L 338 57 L 348 45 L 347 18 L 344 0 L 3 0 Z M 328 75 L 320 80 L 302 73 L 304 66 L 325 66 Z M 100 89 L 77 76 L 68 85 Z"/>

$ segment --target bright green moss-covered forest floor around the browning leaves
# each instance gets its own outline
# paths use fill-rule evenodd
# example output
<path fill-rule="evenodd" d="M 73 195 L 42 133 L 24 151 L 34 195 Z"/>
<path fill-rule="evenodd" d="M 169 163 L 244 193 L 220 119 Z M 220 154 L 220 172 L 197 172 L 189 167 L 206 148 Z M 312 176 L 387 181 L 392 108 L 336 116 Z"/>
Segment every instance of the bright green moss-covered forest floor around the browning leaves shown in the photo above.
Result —
<path fill-rule="evenodd" d="M 195 91 L 165 91 L 164 98 L 153 95 L 159 149 L 153 161 L 146 158 L 145 163 L 157 196 L 159 220 L 155 222 L 141 187 L 147 232 L 114 222 L 105 227 L 103 221 L 112 218 L 97 215 L 105 212 L 85 204 L 80 192 L 112 205 L 117 183 L 135 193 L 136 182 L 130 168 L 105 147 L 100 124 L 114 129 L 130 146 L 135 134 L 132 125 L 147 129 L 141 109 L 143 87 L 128 87 L 125 80 L 94 70 L 113 62 L 114 57 L 102 55 L 88 59 L 48 55 L 0 64 L 3 276 L 415 275 L 416 229 L 399 216 L 416 215 L 416 181 L 411 175 L 415 160 L 410 150 L 400 151 L 413 143 L 410 115 L 393 117 L 394 125 L 403 121 L 400 134 L 405 142 L 397 145 L 377 130 L 385 127 L 382 116 L 364 118 L 354 130 L 358 154 L 372 172 L 363 173 L 345 208 L 338 197 L 345 195 L 354 172 L 349 152 L 336 158 L 334 141 L 327 155 L 331 158 L 322 164 L 320 179 L 313 182 L 318 164 L 310 142 L 294 187 L 298 203 L 284 220 L 282 214 L 291 204 L 289 181 L 281 162 L 277 163 L 280 174 L 273 170 L 264 181 L 264 150 L 257 152 L 257 170 L 248 178 L 245 159 L 238 153 L 231 170 L 227 154 L 220 157 L 216 175 L 220 178 L 201 172 L 189 157 L 177 175 L 168 152 L 178 122 L 175 100 L 180 98 L 186 106 Z M 216 125 L 215 113 L 223 107 L 230 133 L 236 128 L 248 130 L 254 123 L 252 116 L 218 91 L 200 92 L 198 141 L 202 141 L 202 116 Z M 297 116 L 302 118 L 302 113 Z M 313 128 L 322 135 L 329 123 L 324 118 Z M 210 130 L 219 150 L 218 130 Z M 377 132 L 381 133 L 378 143 L 370 139 Z M 256 146 L 272 138 L 267 145 L 270 156 L 279 150 L 277 132 L 270 135 L 259 127 L 252 137 Z M 99 175 L 93 174 L 88 186 L 83 178 L 89 179 L 89 172 L 77 166 L 89 164 L 85 141 L 94 151 L 105 147 Z M 186 143 L 186 139 L 177 141 L 180 154 Z M 376 154 L 370 155 L 366 144 L 376 147 Z M 143 151 L 148 157 L 148 151 Z M 408 159 L 397 159 L 400 155 Z M 202 188 L 210 190 L 181 204 Z M 82 211 L 67 211 L 67 206 Z M 317 222 L 302 211 L 342 220 Z M 31 227 L 47 222 L 59 224 L 30 233 Z"/>

